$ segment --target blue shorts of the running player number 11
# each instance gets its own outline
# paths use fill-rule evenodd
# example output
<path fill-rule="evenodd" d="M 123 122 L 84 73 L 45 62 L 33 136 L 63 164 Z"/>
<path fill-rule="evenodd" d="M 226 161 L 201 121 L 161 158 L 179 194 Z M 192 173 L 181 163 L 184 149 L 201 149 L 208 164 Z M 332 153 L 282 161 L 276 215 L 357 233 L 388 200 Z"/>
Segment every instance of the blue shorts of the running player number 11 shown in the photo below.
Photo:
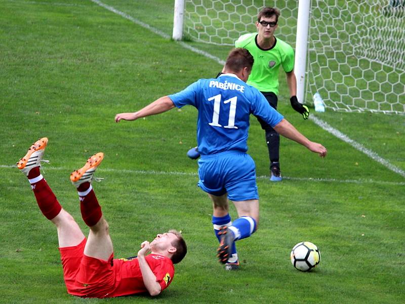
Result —
<path fill-rule="evenodd" d="M 201 155 L 198 160 L 198 186 L 205 192 L 231 201 L 257 200 L 256 166 L 250 155 L 225 151 Z"/>

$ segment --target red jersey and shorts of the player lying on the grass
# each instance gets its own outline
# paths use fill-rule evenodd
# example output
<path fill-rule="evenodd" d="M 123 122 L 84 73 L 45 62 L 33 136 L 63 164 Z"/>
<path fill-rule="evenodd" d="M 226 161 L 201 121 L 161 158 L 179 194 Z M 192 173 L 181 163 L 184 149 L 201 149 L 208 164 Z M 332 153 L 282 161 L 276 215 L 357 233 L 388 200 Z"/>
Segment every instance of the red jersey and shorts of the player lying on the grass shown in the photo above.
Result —
<path fill-rule="evenodd" d="M 83 297 L 115 297 L 148 292 L 139 261 L 134 259 L 101 260 L 83 254 L 86 239 L 77 246 L 59 248 L 67 292 Z M 170 258 L 149 254 L 145 257 L 161 290 L 172 283 L 174 266 Z"/>

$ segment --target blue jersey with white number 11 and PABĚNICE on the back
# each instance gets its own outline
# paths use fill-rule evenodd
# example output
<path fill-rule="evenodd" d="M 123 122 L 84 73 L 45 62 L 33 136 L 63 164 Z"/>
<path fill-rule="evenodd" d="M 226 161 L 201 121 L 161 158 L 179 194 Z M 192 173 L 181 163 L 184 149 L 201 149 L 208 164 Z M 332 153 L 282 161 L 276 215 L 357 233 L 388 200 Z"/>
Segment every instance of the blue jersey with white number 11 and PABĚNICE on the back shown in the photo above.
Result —
<path fill-rule="evenodd" d="M 283 119 L 263 94 L 234 74 L 200 79 L 169 98 L 179 108 L 190 104 L 198 109 L 197 143 L 201 155 L 246 152 L 251 113 L 271 127 Z"/>

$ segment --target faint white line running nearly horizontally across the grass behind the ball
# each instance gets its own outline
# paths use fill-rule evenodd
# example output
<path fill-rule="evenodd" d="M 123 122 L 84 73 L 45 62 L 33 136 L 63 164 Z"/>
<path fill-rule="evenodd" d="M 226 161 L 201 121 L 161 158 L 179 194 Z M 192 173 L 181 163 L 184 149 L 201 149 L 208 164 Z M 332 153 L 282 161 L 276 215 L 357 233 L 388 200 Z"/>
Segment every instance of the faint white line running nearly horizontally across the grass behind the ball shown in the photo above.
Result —
<path fill-rule="evenodd" d="M 0 165 L 0 168 L 5 169 L 17 169 L 17 166 L 13 165 Z M 42 167 L 46 170 L 64 170 L 70 172 L 68 168 L 46 166 Z M 127 174 L 140 174 L 140 175 L 171 175 L 171 176 L 195 176 L 197 173 L 192 172 L 180 172 L 180 171 L 155 171 L 155 170 L 131 170 L 131 169 L 113 169 L 113 168 L 99 168 L 98 172 L 113 172 L 113 173 L 127 173 Z M 268 179 L 266 175 L 257 176 L 258 179 Z M 335 179 L 335 178 L 312 178 L 312 177 L 288 177 L 283 176 L 286 180 L 300 180 L 300 181 L 313 181 L 313 182 L 338 182 L 338 183 L 356 183 L 356 184 L 386 184 L 386 185 L 405 185 L 405 182 L 373 180 L 373 179 Z"/>

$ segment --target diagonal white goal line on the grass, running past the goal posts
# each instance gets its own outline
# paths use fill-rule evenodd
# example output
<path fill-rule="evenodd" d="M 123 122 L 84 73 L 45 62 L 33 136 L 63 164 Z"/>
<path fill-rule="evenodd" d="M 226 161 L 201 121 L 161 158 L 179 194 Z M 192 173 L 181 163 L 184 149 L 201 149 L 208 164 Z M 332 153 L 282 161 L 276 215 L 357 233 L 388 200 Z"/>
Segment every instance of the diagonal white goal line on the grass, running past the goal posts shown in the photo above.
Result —
<path fill-rule="evenodd" d="M 142 27 L 144 27 L 144 28 L 146 28 L 146 29 L 151 30 L 152 32 L 154 32 L 154 33 L 160 35 L 161 37 L 164 37 L 165 39 L 170 39 L 170 38 L 171 38 L 168 34 L 166 34 L 166 33 L 164 33 L 164 32 L 161 32 L 160 30 L 158 30 L 158 29 L 156 29 L 156 28 L 150 26 L 149 24 L 146 24 L 146 23 L 144 23 L 144 22 L 142 22 L 142 21 L 139 21 L 138 19 L 135 19 L 134 17 L 132 17 L 132 16 L 126 14 L 126 13 L 123 13 L 123 12 L 121 12 L 121 11 L 118 11 L 117 9 L 115 9 L 115 8 L 113 8 L 113 7 L 111 7 L 111 6 L 108 6 L 108 5 L 102 3 L 102 2 L 99 1 L 99 0 L 90 0 L 90 1 L 94 2 L 95 4 L 101 6 L 101 7 L 105 8 L 105 9 L 107 9 L 107 10 L 109 10 L 109 11 L 115 13 L 115 14 L 118 14 L 118 15 L 120 15 L 120 16 L 122 16 L 122 17 L 128 19 L 128 20 L 131 20 L 132 22 L 134 22 L 134 23 L 136 23 L 136 24 L 138 24 L 138 25 L 140 25 L 140 26 L 142 26 Z M 200 54 L 200 55 L 203 55 L 203 56 L 205 56 L 205 57 L 208 57 L 208 58 L 210 58 L 210 59 L 213 59 L 213 60 L 217 61 L 217 62 L 218 62 L 219 64 L 221 64 L 221 65 L 223 65 L 223 64 L 225 63 L 223 60 L 219 59 L 218 57 L 215 57 L 215 56 L 213 56 L 213 55 L 211 55 L 211 54 L 209 54 L 209 53 L 207 53 L 207 52 L 205 52 L 205 51 L 198 50 L 198 49 L 196 49 L 196 48 L 194 48 L 194 47 L 192 47 L 192 46 L 190 46 L 190 45 L 188 45 L 188 44 L 186 44 L 186 43 L 184 43 L 184 42 L 178 42 L 178 43 L 179 43 L 182 47 L 184 47 L 184 48 L 186 48 L 186 49 L 188 49 L 188 50 L 191 50 L 191 51 L 193 51 L 193 52 L 195 52 L 195 53 L 198 53 L 198 54 Z M 372 150 L 366 148 L 365 146 L 363 146 L 362 144 L 360 144 L 360 143 L 358 143 L 358 142 L 356 142 L 356 141 L 350 139 L 347 135 L 345 135 L 345 134 L 343 134 L 342 132 L 340 132 L 339 130 L 337 130 L 337 129 L 331 127 L 329 124 L 327 124 L 326 122 L 322 121 L 321 119 L 315 117 L 314 115 L 310 116 L 309 118 L 310 118 L 316 125 L 318 125 L 319 127 L 321 127 L 323 130 L 325 130 L 325 131 L 327 131 L 327 132 L 333 134 L 333 135 L 336 136 L 337 138 L 339 138 L 339 139 L 341 139 L 341 140 L 343 140 L 343 141 L 349 143 L 349 144 L 350 144 L 351 146 L 353 146 L 355 149 L 357 149 L 357 150 L 359 150 L 360 152 L 366 154 L 368 157 L 370 157 L 371 159 L 375 160 L 376 162 L 379 162 L 380 164 L 382 164 L 382 165 L 383 165 L 384 167 L 386 167 L 387 169 L 392 170 L 392 171 L 394 171 L 395 173 L 397 173 L 397 174 L 399 174 L 399 175 L 405 177 L 405 171 L 403 171 L 403 170 L 399 169 L 398 167 L 392 165 L 390 162 L 388 162 L 387 160 L 385 160 L 385 159 L 383 159 L 382 157 L 380 157 L 380 156 L 379 156 L 377 153 L 375 153 L 374 151 L 372 151 Z"/>

